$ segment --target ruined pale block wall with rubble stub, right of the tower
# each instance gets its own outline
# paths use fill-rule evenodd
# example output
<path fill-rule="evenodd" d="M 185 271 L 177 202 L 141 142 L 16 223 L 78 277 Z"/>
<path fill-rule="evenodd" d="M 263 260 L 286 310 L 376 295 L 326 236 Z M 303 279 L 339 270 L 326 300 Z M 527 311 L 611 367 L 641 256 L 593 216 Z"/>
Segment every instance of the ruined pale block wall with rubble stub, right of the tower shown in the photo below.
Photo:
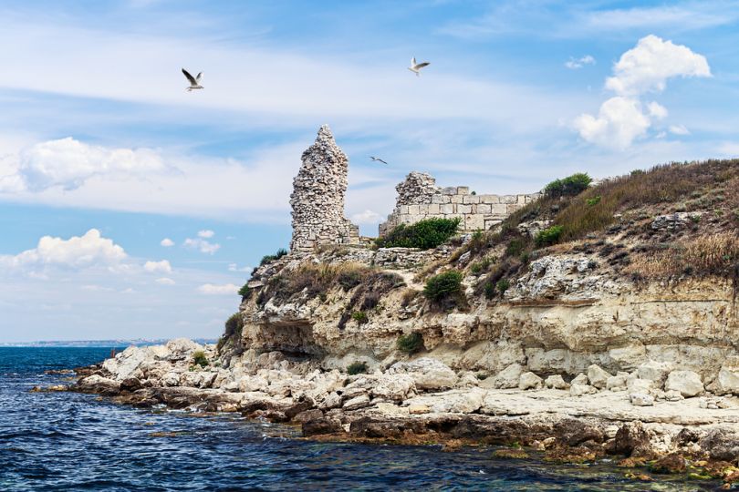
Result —
<path fill-rule="evenodd" d="M 395 209 L 388 220 L 380 224 L 380 235 L 400 224 L 430 218 L 458 217 L 462 219 L 462 231 L 487 230 L 541 196 L 541 193 L 476 195 L 466 186 L 438 187 L 436 179 L 421 172 L 411 172 L 395 190 L 398 190 Z"/>

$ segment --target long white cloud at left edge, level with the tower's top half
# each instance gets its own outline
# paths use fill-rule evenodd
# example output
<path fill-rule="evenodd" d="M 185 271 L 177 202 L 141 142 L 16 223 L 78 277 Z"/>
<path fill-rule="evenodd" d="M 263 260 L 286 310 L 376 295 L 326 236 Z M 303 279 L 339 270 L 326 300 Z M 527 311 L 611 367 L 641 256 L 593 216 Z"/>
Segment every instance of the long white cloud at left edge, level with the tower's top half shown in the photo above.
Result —
<path fill-rule="evenodd" d="M 11 172 L 0 178 L 0 191 L 13 193 L 77 190 L 94 177 L 144 179 L 170 169 L 151 149 L 107 149 L 70 137 L 36 143 L 2 159 Z"/>

